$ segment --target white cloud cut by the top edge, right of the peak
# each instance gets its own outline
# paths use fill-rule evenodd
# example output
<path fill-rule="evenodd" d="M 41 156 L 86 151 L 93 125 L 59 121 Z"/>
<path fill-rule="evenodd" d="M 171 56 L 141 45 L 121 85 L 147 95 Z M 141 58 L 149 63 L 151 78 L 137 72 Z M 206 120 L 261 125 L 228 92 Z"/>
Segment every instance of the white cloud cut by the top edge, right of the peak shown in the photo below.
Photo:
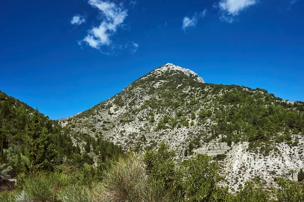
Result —
<path fill-rule="evenodd" d="M 258 0 L 220 0 L 214 7 L 218 8 L 221 13 L 220 20 L 232 23 L 241 11 L 255 5 L 257 1 Z"/>

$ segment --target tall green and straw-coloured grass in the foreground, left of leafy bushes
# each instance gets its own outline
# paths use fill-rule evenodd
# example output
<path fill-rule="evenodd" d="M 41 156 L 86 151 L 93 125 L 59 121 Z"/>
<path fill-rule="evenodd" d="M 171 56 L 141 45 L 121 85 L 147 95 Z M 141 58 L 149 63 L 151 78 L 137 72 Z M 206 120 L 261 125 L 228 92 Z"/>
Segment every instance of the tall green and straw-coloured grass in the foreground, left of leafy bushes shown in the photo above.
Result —
<path fill-rule="evenodd" d="M 22 179 L 17 190 L 0 195 L 0 201 L 26 202 L 171 202 L 173 192 L 146 175 L 138 155 L 128 154 L 107 164 L 101 182 L 84 184 L 76 177 L 39 173 Z"/>

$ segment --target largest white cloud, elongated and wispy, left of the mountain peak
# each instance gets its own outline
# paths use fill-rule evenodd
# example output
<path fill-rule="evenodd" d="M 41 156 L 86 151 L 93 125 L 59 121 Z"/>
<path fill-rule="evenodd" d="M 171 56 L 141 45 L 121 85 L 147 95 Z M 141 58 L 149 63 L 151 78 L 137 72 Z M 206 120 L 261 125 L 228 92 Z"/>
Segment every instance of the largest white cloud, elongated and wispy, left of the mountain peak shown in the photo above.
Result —
<path fill-rule="evenodd" d="M 111 43 L 110 37 L 116 33 L 118 27 L 123 24 L 128 16 L 123 5 L 117 5 L 102 0 L 89 0 L 92 7 L 101 12 L 101 23 L 89 30 L 88 35 L 83 39 L 88 45 L 99 49 L 102 45 Z"/>

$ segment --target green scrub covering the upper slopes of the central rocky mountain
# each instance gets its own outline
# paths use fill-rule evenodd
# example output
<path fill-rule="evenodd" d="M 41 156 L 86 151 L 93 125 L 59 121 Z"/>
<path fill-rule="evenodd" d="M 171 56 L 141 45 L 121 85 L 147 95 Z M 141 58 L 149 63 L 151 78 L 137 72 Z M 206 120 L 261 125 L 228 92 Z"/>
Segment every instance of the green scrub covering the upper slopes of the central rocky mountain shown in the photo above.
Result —
<path fill-rule="evenodd" d="M 154 87 L 155 83 L 161 85 Z M 143 99 L 145 96 L 149 98 Z M 122 114 L 128 123 L 147 111 L 146 117 L 140 120 L 146 120 L 156 132 L 204 128 L 209 140 L 221 138 L 229 145 L 249 141 L 249 149 L 259 150 L 263 155 L 276 149 L 274 142 L 297 145 L 293 137 L 304 131 L 303 102 L 288 102 L 261 88 L 200 83 L 180 71 L 167 71 L 158 76 L 149 73 L 110 100 L 117 106 L 128 106 L 128 112 Z M 110 106 L 110 102 L 103 102 L 90 109 L 91 113 L 75 118 L 89 117 L 96 110 Z"/>

